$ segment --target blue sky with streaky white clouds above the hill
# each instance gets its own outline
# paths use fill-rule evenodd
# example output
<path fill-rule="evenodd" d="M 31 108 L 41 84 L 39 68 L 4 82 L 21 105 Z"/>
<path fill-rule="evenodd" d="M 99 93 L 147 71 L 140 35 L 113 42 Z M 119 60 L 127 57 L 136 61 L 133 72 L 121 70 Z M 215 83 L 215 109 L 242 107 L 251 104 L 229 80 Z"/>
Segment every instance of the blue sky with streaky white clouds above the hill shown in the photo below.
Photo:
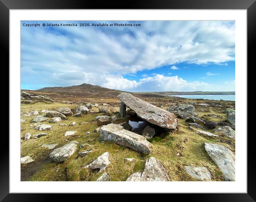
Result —
<path fill-rule="evenodd" d="M 21 21 L 21 89 L 83 83 L 130 92 L 235 91 L 235 21 Z"/>

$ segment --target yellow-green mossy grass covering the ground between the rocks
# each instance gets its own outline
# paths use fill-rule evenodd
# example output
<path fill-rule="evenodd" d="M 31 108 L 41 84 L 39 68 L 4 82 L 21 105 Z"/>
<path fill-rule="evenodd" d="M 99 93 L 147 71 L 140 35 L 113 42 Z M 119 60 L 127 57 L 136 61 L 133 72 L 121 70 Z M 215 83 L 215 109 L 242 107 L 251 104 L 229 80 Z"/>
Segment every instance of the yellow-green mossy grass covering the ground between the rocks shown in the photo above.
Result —
<path fill-rule="evenodd" d="M 21 112 L 42 109 L 57 110 L 59 107 L 69 107 L 71 109 L 76 108 L 76 105 L 63 104 L 63 103 L 43 103 L 37 102 L 32 105 L 21 104 Z M 203 107 L 202 107 L 203 108 Z M 215 108 L 207 108 L 210 112 L 200 112 L 199 116 L 206 116 L 207 114 L 218 115 L 219 120 L 223 120 L 226 115 Z M 198 111 L 199 112 L 199 111 Z M 40 112 L 41 113 L 41 112 Z M 41 113 L 43 114 L 43 113 Z M 132 173 L 143 171 L 146 159 L 153 156 L 155 157 L 166 169 L 168 177 L 171 181 L 197 181 L 195 178 L 189 176 L 184 166 L 204 166 L 211 172 L 212 181 L 223 181 L 223 173 L 211 160 L 204 149 L 204 143 L 217 143 L 225 147 L 228 147 L 235 153 L 235 140 L 234 138 L 228 138 L 226 136 L 220 137 L 206 137 L 198 135 L 195 130 L 191 131 L 188 128 L 188 122 L 179 119 L 179 127 L 174 133 L 165 132 L 161 136 L 157 136 L 149 140 L 152 143 L 152 150 L 149 155 L 144 155 L 137 151 L 133 151 L 124 146 L 119 146 L 112 142 L 102 142 L 100 140 L 99 133 L 93 133 L 93 130 L 97 128 L 97 123 L 94 120 L 96 116 L 103 115 L 103 113 L 88 114 L 82 117 L 68 116 L 67 120 L 62 120 L 61 123 L 67 123 L 67 126 L 59 126 L 59 123 L 49 123 L 47 121 L 44 124 L 53 126 L 53 130 L 46 131 L 47 136 L 34 139 L 33 135 L 40 133 L 34 129 L 34 126 L 29 126 L 33 123 L 30 121 L 33 117 L 25 117 L 21 115 L 21 119 L 25 119 L 25 122 L 21 122 L 21 157 L 30 156 L 35 161 L 31 164 L 22 165 L 22 173 L 28 173 L 36 162 L 38 165 L 34 168 L 34 172 L 31 175 L 24 177 L 27 181 L 96 181 L 98 177 L 102 175 L 98 171 L 91 171 L 87 168 L 83 168 L 98 156 L 104 152 L 109 152 L 109 161 L 111 164 L 106 168 L 105 172 L 109 173 L 110 181 L 125 181 Z M 214 117 L 210 117 L 210 120 L 215 120 Z M 69 126 L 69 123 L 75 121 L 75 126 Z M 85 123 L 87 122 L 87 123 Z M 66 131 L 77 131 L 76 136 L 65 137 Z M 90 132 L 86 135 L 86 132 Z M 32 135 L 31 139 L 24 141 L 24 135 L 26 133 Z M 209 132 L 213 132 L 209 130 Z M 67 141 L 68 140 L 68 141 Z M 57 163 L 50 161 L 48 158 L 49 153 L 52 150 L 41 147 L 43 144 L 55 144 L 60 147 L 70 141 L 78 141 L 77 151 L 67 161 Z M 79 148 L 80 144 L 88 143 L 90 146 Z M 93 150 L 85 157 L 79 157 L 78 152 L 85 150 Z M 180 153 L 181 156 L 177 156 Z M 134 158 L 134 161 L 125 161 L 125 158 Z M 46 161 L 48 159 L 48 161 Z M 34 163 L 34 164 L 33 164 Z M 35 166 L 34 166 L 35 167 Z M 33 170 L 33 169 L 32 169 Z"/>

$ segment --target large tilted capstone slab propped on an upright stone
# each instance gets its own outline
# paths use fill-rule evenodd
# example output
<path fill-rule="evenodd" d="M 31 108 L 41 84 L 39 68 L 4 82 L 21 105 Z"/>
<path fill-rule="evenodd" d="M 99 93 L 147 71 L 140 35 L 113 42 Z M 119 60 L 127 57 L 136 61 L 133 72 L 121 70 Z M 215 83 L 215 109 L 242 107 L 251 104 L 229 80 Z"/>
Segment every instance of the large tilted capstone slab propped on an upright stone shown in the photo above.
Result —
<path fill-rule="evenodd" d="M 117 96 L 127 107 L 133 110 L 138 117 L 163 128 L 173 129 L 178 125 L 176 116 L 159 107 L 134 97 L 132 94 L 122 92 Z"/>

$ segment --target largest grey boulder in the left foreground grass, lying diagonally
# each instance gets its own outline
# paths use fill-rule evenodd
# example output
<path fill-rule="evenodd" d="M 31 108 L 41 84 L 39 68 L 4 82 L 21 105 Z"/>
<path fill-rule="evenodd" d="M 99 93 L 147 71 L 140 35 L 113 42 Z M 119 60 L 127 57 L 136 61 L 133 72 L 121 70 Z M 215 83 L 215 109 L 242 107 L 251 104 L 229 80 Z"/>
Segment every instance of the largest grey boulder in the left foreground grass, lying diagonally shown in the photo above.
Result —
<path fill-rule="evenodd" d="M 63 145 L 62 147 L 56 148 L 49 154 L 49 157 L 56 162 L 66 161 L 77 150 L 77 143 L 78 142 L 73 141 Z"/>

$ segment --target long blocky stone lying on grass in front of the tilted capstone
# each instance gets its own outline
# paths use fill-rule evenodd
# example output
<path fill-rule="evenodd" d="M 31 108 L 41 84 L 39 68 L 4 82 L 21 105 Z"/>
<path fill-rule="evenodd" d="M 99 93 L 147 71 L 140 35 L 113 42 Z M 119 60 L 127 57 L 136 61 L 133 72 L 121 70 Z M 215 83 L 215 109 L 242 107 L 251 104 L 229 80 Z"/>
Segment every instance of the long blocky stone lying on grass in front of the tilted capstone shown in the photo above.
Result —
<path fill-rule="evenodd" d="M 138 152 L 150 152 L 151 143 L 145 137 L 113 123 L 100 128 L 100 138 L 103 141 L 115 142 Z"/>

